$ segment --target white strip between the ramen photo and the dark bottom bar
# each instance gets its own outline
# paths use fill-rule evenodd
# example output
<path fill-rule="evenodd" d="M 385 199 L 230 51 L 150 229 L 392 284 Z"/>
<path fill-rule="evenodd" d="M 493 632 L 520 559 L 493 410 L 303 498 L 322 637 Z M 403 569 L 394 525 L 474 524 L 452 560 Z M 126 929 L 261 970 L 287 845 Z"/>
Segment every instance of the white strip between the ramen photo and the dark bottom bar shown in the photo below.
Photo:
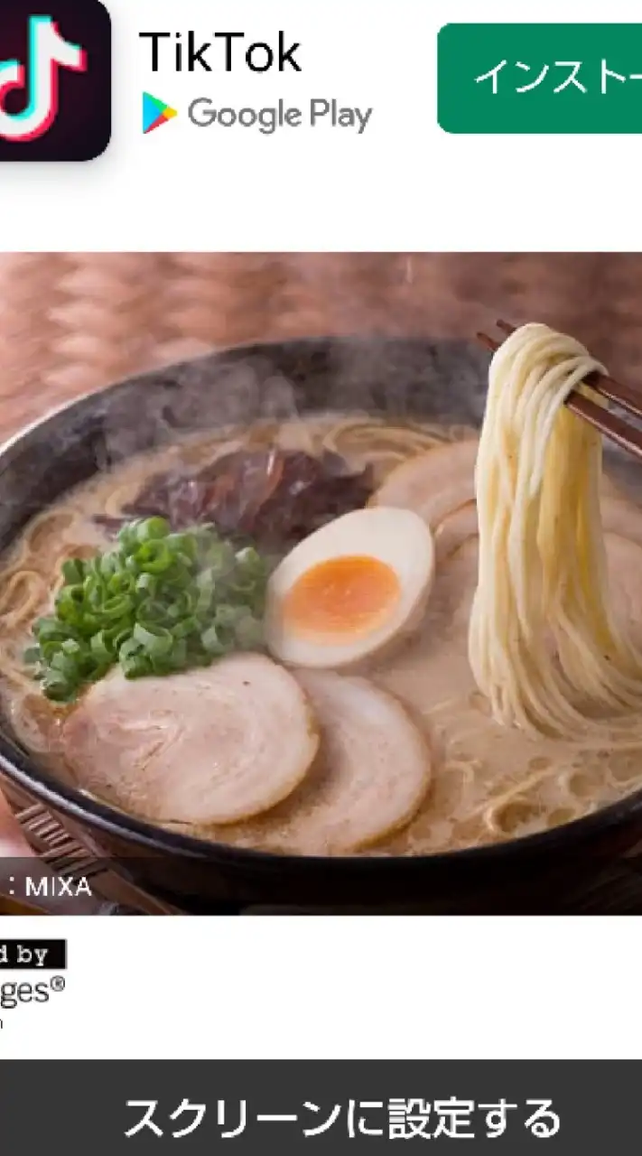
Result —
<path fill-rule="evenodd" d="M 642 1054 L 637 919 L 42 917 L 9 932 L 67 935 L 69 961 L 65 992 L 0 1013 L 0 1055 Z"/>

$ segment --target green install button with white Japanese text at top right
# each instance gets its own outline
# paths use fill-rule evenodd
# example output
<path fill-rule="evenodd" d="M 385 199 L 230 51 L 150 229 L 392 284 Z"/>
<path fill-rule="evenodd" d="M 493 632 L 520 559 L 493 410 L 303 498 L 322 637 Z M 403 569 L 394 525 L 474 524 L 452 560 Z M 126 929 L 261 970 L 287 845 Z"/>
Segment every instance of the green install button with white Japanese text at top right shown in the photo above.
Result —
<path fill-rule="evenodd" d="M 448 133 L 642 133 L 642 24 L 447 24 Z"/>

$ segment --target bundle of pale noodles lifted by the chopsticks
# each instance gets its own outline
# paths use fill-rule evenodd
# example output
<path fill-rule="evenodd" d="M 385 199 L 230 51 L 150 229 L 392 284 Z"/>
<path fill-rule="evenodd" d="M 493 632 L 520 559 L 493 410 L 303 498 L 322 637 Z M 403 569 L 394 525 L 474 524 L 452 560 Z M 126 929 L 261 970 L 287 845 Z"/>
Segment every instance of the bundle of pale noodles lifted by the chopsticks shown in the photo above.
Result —
<path fill-rule="evenodd" d="M 499 722 L 570 735 L 642 707 L 642 655 L 608 599 L 602 438 L 563 408 L 603 371 L 525 325 L 493 357 L 475 468 L 479 573 L 468 658 Z"/>

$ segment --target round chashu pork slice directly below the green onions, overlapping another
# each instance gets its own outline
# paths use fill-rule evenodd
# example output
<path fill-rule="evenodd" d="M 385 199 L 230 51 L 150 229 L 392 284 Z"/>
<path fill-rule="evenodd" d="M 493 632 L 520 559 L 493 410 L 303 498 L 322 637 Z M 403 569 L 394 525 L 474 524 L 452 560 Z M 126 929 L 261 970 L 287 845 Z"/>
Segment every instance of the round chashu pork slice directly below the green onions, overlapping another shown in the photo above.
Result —
<path fill-rule="evenodd" d="M 260 654 L 206 669 L 97 682 L 68 717 L 64 755 L 84 791 L 156 823 L 236 823 L 281 802 L 319 743 L 308 696 Z"/>

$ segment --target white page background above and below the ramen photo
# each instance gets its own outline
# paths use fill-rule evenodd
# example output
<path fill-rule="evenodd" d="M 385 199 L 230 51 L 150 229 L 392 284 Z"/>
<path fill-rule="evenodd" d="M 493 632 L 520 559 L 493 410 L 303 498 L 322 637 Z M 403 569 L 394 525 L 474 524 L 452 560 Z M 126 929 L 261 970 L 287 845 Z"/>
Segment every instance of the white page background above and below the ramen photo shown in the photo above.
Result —
<path fill-rule="evenodd" d="M 448 21 L 635 21 L 584 0 L 111 0 L 115 134 L 84 165 L 5 165 L 6 250 L 636 250 L 639 138 L 465 138 L 436 124 Z M 484 13 L 484 15 L 481 15 Z M 179 15 L 178 15 L 179 14 Z M 280 28 L 301 75 L 154 76 L 140 30 Z M 492 64 L 492 62 L 490 62 Z M 182 111 L 143 136 L 141 92 Z M 199 95 L 374 105 L 357 138 L 197 129 Z M 65 935 L 68 985 L 0 1013 L 13 1057 L 642 1053 L 637 920 L 15 919 Z"/>

